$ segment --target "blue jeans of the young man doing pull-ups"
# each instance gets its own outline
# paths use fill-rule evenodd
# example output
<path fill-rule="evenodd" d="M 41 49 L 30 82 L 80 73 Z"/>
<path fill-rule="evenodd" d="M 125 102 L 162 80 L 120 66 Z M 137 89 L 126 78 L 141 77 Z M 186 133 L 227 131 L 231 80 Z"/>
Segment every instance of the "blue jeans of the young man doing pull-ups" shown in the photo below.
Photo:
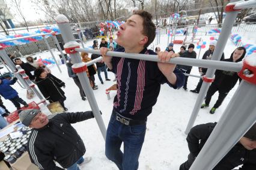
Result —
<path fill-rule="evenodd" d="M 112 114 L 106 132 L 106 157 L 112 160 L 120 170 L 138 169 L 145 132 L 146 123 L 127 126 L 117 121 Z M 122 142 L 124 142 L 124 153 L 120 150 Z"/>

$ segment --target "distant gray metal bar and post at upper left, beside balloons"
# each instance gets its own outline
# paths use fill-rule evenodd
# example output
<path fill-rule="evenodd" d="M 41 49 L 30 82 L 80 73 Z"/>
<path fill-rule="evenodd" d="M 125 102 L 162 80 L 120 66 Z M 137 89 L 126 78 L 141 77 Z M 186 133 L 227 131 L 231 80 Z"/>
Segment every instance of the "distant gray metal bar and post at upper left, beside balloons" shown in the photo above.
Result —
<path fill-rule="evenodd" d="M 32 37 L 40 37 L 40 36 L 42 36 L 43 39 L 44 39 L 44 42 L 46 43 L 47 48 L 48 48 L 49 51 L 50 51 L 50 54 L 52 55 L 52 58 L 53 58 L 54 61 L 56 62 L 56 65 L 57 65 L 57 67 L 58 67 L 58 69 L 59 69 L 59 72 L 61 73 L 61 68 L 59 68 L 58 62 L 56 61 L 56 58 L 55 58 L 55 56 L 53 55 L 52 50 L 50 49 L 50 45 L 49 45 L 49 43 L 47 42 L 46 38 L 44 37 L 45 35 L 50 35 L 50 34 L 52 34 L 52 33 L 35 34 L 35 35 L 28 35 L 28 36 L 24 36 L 24 37 L 9 38 L 9 39 L 7 39 L 7 40 L 0 40 L 0 43 L 4 43 L 4 42 L 8 42 L 8 41 L 14 41 L 14 40 L 21 40 L 21 39 L 24 39 L 24 38 L 32 38 Z M 55 37 L 55 36 L 53 36 L 53 39 L 54 39 L 54 37 Z M 55 37 L 55 38 L 56 38 L 56 37 Z M 57 40 L 57 41 L 58 41 L 58 40 Z M 55 43 L 56 43 L 56 41 L 55 41 Z M 58 46 L 58 43 L 57 43 L 57 46 Z M 63 56 L 62 56 L 62 57 L 63 57 Z"/>

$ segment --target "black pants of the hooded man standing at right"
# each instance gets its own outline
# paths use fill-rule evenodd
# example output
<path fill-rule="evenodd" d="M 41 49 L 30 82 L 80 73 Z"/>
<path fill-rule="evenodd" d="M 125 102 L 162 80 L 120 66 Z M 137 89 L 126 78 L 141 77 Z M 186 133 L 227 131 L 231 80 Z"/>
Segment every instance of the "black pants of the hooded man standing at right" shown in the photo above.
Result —
<path fill-rule="evenodd" d="M 213 96 L 213 94 L 215 94 L 216 91 L 219 91 L 219 97 L 213 107 L 219 108 L 219 106 L 221 106 L 221 103 L 223 102 L 225 97 L 228 95 L 228 91 L 223 91 L 223 90 L 219 89 L 214 83 L 212 83 L 212 85 L 210 85 L 209 90 L 207 91 L 206 105 L 209 105 L 209 103 L 212 99 L 212 96 Z"/>

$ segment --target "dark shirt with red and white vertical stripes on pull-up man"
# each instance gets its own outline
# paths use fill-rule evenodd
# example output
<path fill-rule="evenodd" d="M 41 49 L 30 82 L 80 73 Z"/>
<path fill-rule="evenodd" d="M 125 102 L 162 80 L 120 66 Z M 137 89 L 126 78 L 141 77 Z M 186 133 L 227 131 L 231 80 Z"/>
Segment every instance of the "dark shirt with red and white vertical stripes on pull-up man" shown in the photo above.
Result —
<path fill-rule="evenodd" d="M 116 52 L 124 52 L 118 48 Z M 142 54 L 156 55 L 153 50 L 144 49 Z M 156 56 L 157 57 L 157 56 Z M 175 68 L 175 85 L 168 82 L 159 70 L 157 62 L 112 57 L 112 70 L 117 74 L 117 96 L 114 99 L 114 111 L 126 118 L 145 120 L 156 104 L 160 85 L 167 83 L 176 89 L 184 84 L 184 74 Z"/>

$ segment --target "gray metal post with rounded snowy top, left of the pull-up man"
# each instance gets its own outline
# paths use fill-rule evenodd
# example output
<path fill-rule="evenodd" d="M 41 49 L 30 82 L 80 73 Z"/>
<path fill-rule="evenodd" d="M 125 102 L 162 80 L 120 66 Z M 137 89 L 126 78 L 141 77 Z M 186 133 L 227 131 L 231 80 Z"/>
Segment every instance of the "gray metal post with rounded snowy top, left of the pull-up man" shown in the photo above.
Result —
<path fill-rule="evenodd" d="M 62 38 L 63 38 L 64 42 L 66 43 L 65 46 L 67 47 L 69 42 L 73 43 L 73 41 L 75 40 L 75 38 L 73 37 L 73 34 L 72 34 L 72 29 L 69 24 L 69 19 L 67 19 L 66 16 L 60 14 L 56 17 L 56 22 L 58 24 L 59 30 L 61 31 Z M 74 43 L 76 43 L 76 42 L 74 42 Z M 67 48 L 66 48 L 66 52 L 67 52 Z M 73 66 L 74 65 L 79 66 L 82 64 L 82 59 L 81 59 L 81 56 L 79 55 L 79 52 L 70 53 L 70 57 L 72 58 L 72 62 L 74 63 Z M 77 67 L 76 69 L 79 69 L 79 68 L 81 69 L 81 67 Z M 85 70 L 82 70 L 76 74 L 78 75 L 78 78 L 81 82 L 82 88 L 88 98 L 88 102 L 91 106 L 94 117 L 96 118 L 97 124 L 100 128 L 100 132 L 102 133 L 103 138 L 106 140 L 106 127 L 102 120 L 102 115 L 100 114 L 100 109 L 97 105 L 95 96 L 93 94 L 93 90 L 91 88 L 89 79 L 87 77 L 87 73 L 85 72 Z"/>

